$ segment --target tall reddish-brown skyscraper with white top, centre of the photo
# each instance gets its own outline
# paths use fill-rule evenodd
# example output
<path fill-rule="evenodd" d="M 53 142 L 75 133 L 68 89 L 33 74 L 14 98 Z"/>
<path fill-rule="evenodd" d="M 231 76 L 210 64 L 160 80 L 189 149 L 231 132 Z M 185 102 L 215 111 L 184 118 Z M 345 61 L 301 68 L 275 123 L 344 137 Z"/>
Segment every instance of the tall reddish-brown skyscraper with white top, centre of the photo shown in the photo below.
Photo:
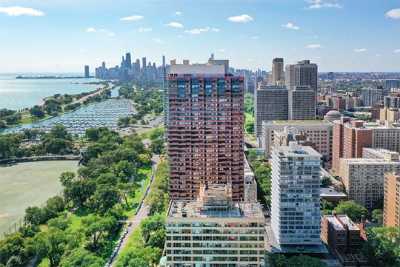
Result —
<path fill-rule="evenodd" d="M 232 185 L 243 199 L 243 77 L 224 65 L 174 64 L 168 71 L 170 196 L 195 199 L 204 183 Z"/>

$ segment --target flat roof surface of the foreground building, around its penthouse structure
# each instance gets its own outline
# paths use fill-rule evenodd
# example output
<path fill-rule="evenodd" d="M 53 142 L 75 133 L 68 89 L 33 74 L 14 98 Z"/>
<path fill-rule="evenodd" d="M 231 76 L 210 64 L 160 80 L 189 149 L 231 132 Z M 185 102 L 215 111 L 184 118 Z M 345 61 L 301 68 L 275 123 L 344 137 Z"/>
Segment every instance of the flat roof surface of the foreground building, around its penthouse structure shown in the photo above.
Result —
<path fill-rule="evenodd" d="M 229 205 L 204 206 L 200 201 L 172 201 L 171 218 L 253 218 L 264 219 L 259 203 L 231 202 Z"/>

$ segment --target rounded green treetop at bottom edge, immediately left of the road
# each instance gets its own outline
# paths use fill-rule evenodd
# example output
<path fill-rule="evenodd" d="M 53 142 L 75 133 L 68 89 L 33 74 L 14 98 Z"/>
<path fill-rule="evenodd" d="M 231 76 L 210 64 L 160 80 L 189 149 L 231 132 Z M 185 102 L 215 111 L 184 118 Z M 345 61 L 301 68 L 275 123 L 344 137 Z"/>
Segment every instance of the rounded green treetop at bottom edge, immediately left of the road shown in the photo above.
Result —
<path fill-rule="evenodd" d="M 100 267 L 104 260 L 84 248 L 77 248 L 68 253 L 60 262 L 60 267 Z"/>

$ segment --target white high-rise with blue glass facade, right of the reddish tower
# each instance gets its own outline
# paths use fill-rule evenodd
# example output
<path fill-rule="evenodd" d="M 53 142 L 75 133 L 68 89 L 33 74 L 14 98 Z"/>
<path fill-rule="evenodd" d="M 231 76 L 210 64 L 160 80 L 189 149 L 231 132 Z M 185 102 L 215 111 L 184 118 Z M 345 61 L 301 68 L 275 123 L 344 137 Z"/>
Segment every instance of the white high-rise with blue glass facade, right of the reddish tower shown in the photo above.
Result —
<path fill-rule="evenodd" d="M 281 248 L 321 244 L 320 158 L 295 142 L 272 152 L 271 228 Z"/>

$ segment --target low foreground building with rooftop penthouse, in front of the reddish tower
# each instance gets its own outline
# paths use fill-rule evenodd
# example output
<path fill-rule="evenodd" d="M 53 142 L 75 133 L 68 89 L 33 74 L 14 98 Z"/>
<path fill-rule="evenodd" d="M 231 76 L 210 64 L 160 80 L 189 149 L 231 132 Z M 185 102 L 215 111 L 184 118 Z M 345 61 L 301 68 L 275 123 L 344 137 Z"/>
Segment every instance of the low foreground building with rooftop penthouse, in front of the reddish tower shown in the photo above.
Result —
<path fill-rule="evenodd" d="M 264 266 L 261 205 L 233 202 L 227 185 L 204 185 L 197 201 L 174 200 L 166 223 L 167 266 Z"/>

